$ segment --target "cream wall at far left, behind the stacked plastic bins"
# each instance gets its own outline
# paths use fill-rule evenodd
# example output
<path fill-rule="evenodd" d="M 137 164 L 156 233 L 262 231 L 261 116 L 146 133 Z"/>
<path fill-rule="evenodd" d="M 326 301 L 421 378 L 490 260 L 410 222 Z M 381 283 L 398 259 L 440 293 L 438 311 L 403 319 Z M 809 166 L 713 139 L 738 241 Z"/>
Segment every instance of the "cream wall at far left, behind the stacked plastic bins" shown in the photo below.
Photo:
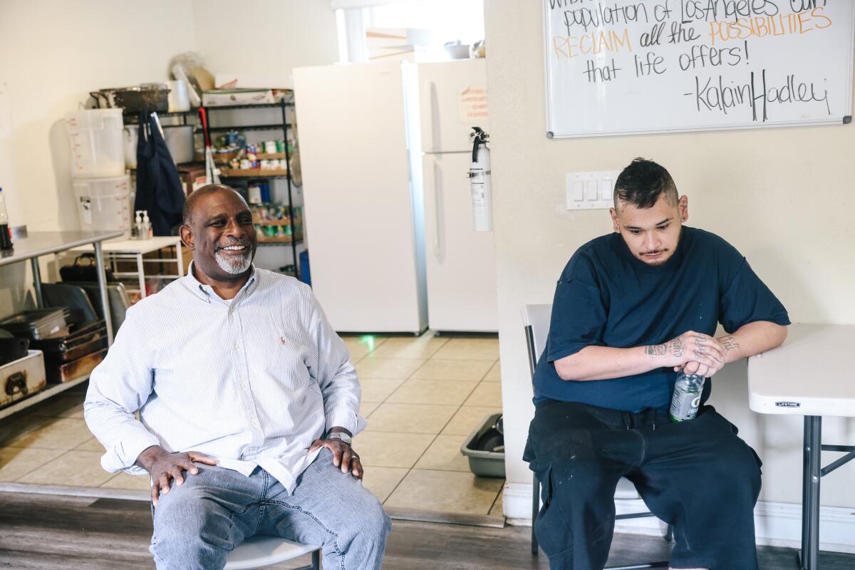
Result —
<path fill-rule="evenodd" d="M 0 82 L 12 137 L 0 140 L 0 186 L 13 226 L 79 230 L 63 115 L 89 91 L 167 79 L 195 46 L 190 0 L 0 0 Z M 0 314 L 27 286 L 24 264 L 0 268 Z"/>

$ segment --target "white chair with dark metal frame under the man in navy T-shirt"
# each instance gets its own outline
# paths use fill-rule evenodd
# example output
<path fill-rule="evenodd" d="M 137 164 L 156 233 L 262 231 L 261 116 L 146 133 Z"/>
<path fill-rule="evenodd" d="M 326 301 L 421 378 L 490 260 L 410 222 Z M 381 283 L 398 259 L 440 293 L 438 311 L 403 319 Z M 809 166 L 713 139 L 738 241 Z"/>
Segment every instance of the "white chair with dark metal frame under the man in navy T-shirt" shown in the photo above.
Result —
<path fill-rule="evenodd" d="M 522 324 L 526 333 L 526 348 L 528 349 L 528 367 L 531 378 L 534 381 L 534 369 L 537 361 L 546 347 L 546 338 L 549 336 L 549 322 L 552 317 L 552 305 L 548 304 L 525 304 L 522 305 Z M 635 485 L 629 479 L 621 478 L 617 483 L 615 499 L 618 501 L 634 501 L 640 499 Z M 534 536 L 534 519 L 540 511 L 540 481 L 534 475 L 534 489 L 532 490 L 532 554 L 539 552 L 537 537 Z M 640 519 L 642 517 L 654 516 L 650 512 L 616 514 L 616 520 Z M 670 541 L 673 537 L 671 526 L 665 534 L 665 540 Z M 635 568 L 663 568 L 668 567 L 668 562 L 649 562 L 645 564 L 633 564 L 629 566 L 609 566 L 604 570 L 634 570 Z"/>

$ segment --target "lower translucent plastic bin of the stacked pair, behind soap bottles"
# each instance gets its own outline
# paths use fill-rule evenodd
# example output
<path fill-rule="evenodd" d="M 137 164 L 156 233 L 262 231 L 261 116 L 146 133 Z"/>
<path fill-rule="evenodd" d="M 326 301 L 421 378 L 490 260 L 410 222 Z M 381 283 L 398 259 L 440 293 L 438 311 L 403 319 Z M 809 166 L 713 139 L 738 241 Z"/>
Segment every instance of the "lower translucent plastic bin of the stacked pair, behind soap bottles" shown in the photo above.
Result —
<path fill-rule="evenodd" d="M 71 183 L 83 231 L 121 230 L 122 238 L 131 237 L 130 176 L 76 178 Z"/>

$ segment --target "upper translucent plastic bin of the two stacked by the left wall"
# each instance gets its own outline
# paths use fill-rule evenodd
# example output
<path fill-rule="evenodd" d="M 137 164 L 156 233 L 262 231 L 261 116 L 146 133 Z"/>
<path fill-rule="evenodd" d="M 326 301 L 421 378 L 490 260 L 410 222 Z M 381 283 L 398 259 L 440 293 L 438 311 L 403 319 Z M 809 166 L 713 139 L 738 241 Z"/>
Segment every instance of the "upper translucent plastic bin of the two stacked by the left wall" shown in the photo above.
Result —
<path fill-rule="evenodd" d="M 85 109 L 65 114 L 73 178 L 121 176 L 121 109 Z"/>

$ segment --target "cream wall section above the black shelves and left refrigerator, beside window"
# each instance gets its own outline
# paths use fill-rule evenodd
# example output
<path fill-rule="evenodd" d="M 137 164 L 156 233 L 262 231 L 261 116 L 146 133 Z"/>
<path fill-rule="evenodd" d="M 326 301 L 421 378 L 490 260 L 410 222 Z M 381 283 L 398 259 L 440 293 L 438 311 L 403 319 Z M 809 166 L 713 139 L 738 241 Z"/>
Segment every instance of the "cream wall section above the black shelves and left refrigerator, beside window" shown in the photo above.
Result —
<path fill-rule="evenodd" d="M 211 73 L 289 78 L 293 68 L 339 60 L 329 0 L 192 0 L 192 5 L 197 47 Z"/>

